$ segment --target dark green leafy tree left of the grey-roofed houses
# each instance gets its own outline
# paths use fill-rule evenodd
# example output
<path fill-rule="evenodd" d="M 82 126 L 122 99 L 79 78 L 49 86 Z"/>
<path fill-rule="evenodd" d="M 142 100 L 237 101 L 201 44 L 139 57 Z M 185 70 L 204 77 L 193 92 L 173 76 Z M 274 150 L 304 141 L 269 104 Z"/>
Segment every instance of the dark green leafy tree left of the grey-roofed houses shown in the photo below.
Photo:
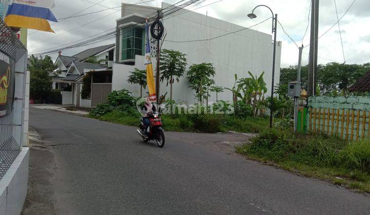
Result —
<path fill-rule="evenodd" d="M 50 56 L 30 58 L 30 96 L 32 99 L 46 99 L 47 94 L 51 90 L 52 76 L 57 76 L 58 73 L 53 72 L 57 69 L 54 66 Z"/>

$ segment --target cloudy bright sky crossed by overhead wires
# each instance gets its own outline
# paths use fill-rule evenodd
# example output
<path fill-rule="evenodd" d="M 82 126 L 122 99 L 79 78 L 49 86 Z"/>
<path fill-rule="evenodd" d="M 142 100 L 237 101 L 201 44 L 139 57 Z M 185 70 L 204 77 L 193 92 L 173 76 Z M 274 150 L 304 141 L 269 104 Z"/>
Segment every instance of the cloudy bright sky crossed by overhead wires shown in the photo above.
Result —
<path fill-rule="evenodd" d="M 55 0 L 56 7 L 51 9 L 55 17 L 63 18 L 78 13 L 85 14 L 104 10 L 104 7 L 118 7 L 121 3 L 140 4 L 157 7 L 161 0 Z M 174 4 L 179 0 L 165 0 L 165 3 Z M 99 5 L 93 6 L 95 3 Z M 147 2 L 147 3 L 142 3 Z M 345 13 L 353 0 L 336 0 L 339 18 Z M 212 4 L 214 3 L 214 4 Z M 211 4 L 211 5 L 209 5 Z M 273 13 L 278 14 L 278 20 L 295 44 L 307 46 L 309 44 L 310 28 L 308 26 L 308 15 L 310 0 L 207 0 L 187 9 L 198 13 L 223 19 L 227 22 L 244 27 L 252 26 L 271 16 L 271 12 L 264 7 L 255 10 L 257 18 L 250 19 L 247 14 L 257 5 L 269 6 Z M 206 6 L 208 5 L 208 6 Z M 93 7 L 91 7 L 93 6 Z M 204 7 L 202 7 L 204 6 Z M 201 8 L 200 8 L 201 7 Z M 199 8 L 199 9 L 197 9 Z M 334 0 L 320 1 L 319 36 L 324 34 L 318 43 L 318 62 L 357 63 L 370 62 L 370 4 L 368 0 L 357 0 L 340 20 L 340 29 L 343 41 L 344 57 L 338 25 L 325 33 L 337 22 L 337 14 Z M 120 18 L 119 10 L 106 10 L 86 16 L 69 18 L 59 23 L 50 22 L 55 33 L 28 30 L 28 53 L 38 53 L 41 50 L 52 47 L 63 46 L 69 42 L 86 38 L 88 36 L 107 31 L 116 26 L 116 19 Z M 271 22 L 265 22 L 252 29 L 271 34 Z M 306 36 L 303 38 L 307 29 Z M 271 37 L 272 38 L 272 37 Z M 199 38 L 205 39 L 205 38 Z M 302 40 L 303 39 L 303 40 Z M 284 34 L 278 25 L 277 40 L 282 41 L 281 67 L 289 67 L 298 64 L 298 47 Z M 99 44 L 75 48 L 63 51 L 63 55 L 73 55 L 87 48 L 114 43 L 114 39 L 103 41 Z M 303 65 L 308 62 L 309 46 L 303 49 Z M 58 53 L 51 54 L 53 59 Z"/>

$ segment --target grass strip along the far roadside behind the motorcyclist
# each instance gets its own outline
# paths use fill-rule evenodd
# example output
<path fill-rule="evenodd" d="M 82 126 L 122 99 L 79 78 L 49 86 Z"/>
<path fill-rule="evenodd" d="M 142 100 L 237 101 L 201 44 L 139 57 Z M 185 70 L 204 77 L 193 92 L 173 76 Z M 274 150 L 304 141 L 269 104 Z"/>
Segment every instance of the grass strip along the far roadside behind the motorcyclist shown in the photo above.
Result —
<path fill-rule="evenodd" d="M 126 114 L 125 112 L 114 110 L 102 116 L 88 117 L 124 125 L 137 126 L 140 115 Z M 269 126 L 267 118 L 239 118 L 233 115 L 163 115 L 161 116 L 165 131 L 175 132 L 245 132 L 258 133 Z"/>

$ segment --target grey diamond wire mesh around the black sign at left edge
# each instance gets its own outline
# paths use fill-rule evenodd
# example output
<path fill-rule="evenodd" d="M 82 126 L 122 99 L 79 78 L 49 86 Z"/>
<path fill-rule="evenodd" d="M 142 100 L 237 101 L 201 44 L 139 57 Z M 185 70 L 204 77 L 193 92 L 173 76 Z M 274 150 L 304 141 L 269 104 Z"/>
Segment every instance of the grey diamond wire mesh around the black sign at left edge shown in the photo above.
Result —
<path fill-rule="evenodd" d="M 24 56 L 26 51 L 14 32 L 0 19 L 0 54 L 6 55 L 16 62 Z M 19 71 L 15 71 L 15 73 L 17 72 Z M 10 109 L 7 115 L 0 117 L 0 179 L 3 178 L 21 152 L 21 146 L 14 139 L 13 132 L 18 131 L 15 127 L 22 125 L 14 123 L 14 103 Z"/>

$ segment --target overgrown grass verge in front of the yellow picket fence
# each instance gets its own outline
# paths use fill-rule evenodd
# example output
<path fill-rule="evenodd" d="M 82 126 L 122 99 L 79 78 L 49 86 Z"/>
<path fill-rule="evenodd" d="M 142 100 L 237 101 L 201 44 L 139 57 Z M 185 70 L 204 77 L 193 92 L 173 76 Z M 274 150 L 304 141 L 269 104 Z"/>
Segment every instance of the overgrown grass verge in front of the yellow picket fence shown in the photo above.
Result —
<path fill-rule="evenodd" d="M 238 147 L 237 152 L 306 177 L 370 192 L 369 139 L 347 142 L 324 135 L 270 130 Z"/>

